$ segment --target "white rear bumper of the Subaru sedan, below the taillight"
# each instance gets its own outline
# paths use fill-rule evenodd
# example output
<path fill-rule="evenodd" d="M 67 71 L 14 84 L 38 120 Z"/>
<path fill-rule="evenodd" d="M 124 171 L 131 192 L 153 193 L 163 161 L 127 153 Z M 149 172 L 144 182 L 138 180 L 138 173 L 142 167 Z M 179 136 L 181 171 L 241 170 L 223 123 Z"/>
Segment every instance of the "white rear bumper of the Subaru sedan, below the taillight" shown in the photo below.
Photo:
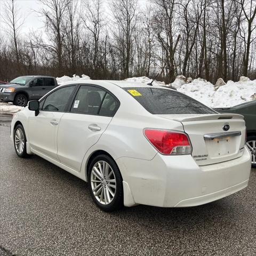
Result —
<path fill-rule="evenodd" d="M 121 157 L 116 162 L 129 186 L 124 191 L 126 206 L 186 207 L 209 203 L 245 188 L 251 171 L 251 155 L 246 147 L 239 158 L 205 166 L 198 166 L 191 155 L 157 154 L 151 161 Z"/>

